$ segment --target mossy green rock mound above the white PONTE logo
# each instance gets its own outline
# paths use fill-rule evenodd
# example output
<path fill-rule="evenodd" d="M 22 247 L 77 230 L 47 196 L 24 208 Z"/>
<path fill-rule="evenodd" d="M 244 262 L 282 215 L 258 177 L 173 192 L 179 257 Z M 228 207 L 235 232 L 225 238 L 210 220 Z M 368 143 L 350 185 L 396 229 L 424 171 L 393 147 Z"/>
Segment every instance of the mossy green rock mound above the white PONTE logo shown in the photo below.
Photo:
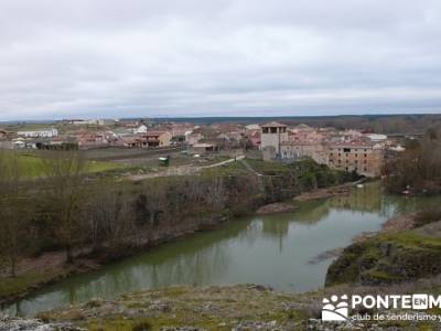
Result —
<path fill-rule="evenodd" d="M 421 229 L 378 234 L 346 247 L 327 269 L 326 286 L 376 286 L 431 277 L 441 273 L 440 255 L 441 236 L 423 235 Z"/>

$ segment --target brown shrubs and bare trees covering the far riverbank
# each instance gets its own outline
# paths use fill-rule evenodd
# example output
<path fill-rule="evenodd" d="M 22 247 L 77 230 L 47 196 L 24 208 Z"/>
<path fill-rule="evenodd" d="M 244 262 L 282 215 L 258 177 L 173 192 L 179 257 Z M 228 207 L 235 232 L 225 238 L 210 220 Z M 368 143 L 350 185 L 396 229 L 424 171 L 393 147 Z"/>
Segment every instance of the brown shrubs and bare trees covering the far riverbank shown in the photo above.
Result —
<path fill-rule="evenodd" d="M 235 162 L 200 175 L 127 181 L 88 171 L 79 152 L 42 158 L 30 179 L 0 153 L 0 298 L 10 300 L 73 273 L 206 229 L 257 206 L 351 181 L 306 160 Z M 36 263 L 35 263 L 36 261 Z"/>

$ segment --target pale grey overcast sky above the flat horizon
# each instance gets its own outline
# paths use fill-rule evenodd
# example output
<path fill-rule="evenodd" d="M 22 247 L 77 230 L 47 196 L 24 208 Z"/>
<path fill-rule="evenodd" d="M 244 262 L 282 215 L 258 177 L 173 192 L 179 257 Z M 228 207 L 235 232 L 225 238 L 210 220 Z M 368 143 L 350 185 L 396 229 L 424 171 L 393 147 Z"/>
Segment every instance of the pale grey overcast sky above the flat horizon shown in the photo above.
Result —
<path fill-rule="evenodd" d="M 441 113 L 440 0 L 1 0 L 0 120 Z"/>

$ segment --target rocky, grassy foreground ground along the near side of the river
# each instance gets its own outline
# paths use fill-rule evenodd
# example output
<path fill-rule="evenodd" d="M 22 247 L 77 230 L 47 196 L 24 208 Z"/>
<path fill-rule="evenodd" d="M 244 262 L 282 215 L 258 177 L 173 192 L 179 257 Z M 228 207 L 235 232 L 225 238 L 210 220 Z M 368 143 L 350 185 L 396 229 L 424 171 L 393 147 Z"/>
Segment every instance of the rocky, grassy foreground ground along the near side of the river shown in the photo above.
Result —
<path fill-rule="evenodd" d="M 41 313 L 35 320 L 0 319 L 0 331 L 439 330 L 439 323 L 430 322 L 322 322 L 322 298 L 348 291 L 373 289 L 338 287 L 291 295 L 257 285 L 173 287 L 125 295 L 117 300 L 95 299 Z"/>

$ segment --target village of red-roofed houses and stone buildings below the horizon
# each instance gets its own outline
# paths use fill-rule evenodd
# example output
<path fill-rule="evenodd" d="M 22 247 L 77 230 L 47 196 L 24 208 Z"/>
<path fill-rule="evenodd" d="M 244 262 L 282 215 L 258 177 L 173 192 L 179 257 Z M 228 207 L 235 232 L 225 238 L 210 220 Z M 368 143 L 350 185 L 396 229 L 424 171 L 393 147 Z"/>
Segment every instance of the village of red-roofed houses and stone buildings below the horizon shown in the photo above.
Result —
<path fill-rule="evenodd" d="M 387 158 L 405 150 L 400 142 L 396 137 L 368 129 L 338 130 L 278 121 L 193 124 L 65 119 L 47 125 L 0 127 L 0 148 L 7 150 L 84 150 L 93 159 L 130 160 L 140 164 L 147 158 L 165 167 L 170 166 L 170 156 L 194 158 L 200 163 L 216 156 L 247 156 L 279 162 L 309 158 L 332 169 L 373 178 L 380 175 Z"/>

